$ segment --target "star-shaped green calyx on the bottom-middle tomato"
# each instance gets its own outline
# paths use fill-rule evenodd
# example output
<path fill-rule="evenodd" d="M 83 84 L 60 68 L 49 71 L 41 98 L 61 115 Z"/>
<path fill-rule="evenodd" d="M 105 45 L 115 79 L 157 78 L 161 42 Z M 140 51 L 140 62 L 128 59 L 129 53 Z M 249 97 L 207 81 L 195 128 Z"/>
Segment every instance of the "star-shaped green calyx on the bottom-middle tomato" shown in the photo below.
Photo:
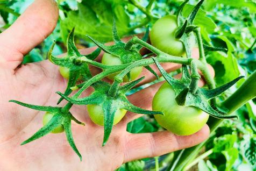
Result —
<path fill-rule="evenodd" d="M 124 86 L 118 86 L 116 94 L 112 96 L 110 96 L 109 94 L 109 91 L 112 87 L 111 84 L 103 81 L 96 82 L 94 84 L 95 91 L 93 92 L 93 94 L 84 98 L 68 97 L 64 94 L 61 94 L 61 92 L 56 93 L 59 94 L 61 97 L 65 98 L 68 102 L 73 104 L 96 104 L 102 106 L 104 116 L 104 138 L 102 146 L 104 146 L 109 139 L 113 127 L 113 118 L 115 117 L 115 113 L 118 109 L 125 109 L 127 111 L 145 115 L 163 115 L 163 113 L 159 111 L 150 111 L 139 108 L 130 103 L 126 98 L 125 93 L 132 89 L 134 86 L 136 86 L 136 84 L 138 84 L 143 79 L 144 77 L 141 77 L 138 80 L 125 84 Z"/>

